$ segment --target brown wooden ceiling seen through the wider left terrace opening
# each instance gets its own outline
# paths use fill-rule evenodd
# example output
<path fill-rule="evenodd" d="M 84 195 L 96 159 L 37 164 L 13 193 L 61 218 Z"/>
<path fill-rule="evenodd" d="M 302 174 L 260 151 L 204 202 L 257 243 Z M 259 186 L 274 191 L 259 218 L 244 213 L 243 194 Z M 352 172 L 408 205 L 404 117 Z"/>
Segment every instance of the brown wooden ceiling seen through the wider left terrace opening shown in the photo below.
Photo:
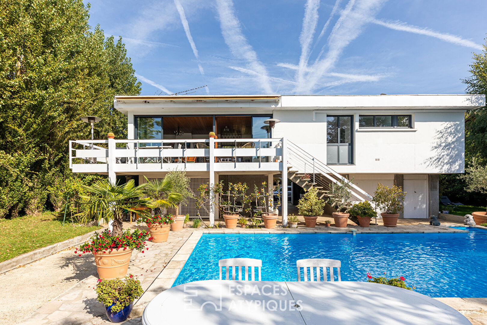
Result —
<path fill-rule="evenodd" d="M 164 134 L 174 134 L 178 130 L 186 134 L 208 134 L 213 131 L 212 116 L 171 116 L 163 117 Z"/>

